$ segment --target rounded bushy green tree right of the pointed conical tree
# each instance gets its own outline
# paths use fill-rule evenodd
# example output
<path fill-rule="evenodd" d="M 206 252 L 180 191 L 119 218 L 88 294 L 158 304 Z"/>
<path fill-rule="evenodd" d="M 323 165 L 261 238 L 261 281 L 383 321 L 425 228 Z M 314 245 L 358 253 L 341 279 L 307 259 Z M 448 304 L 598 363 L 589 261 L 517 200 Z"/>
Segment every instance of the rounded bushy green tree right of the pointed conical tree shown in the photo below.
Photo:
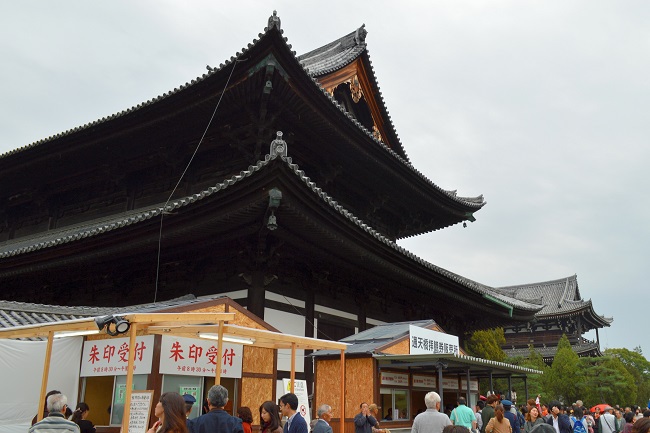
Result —
<path fill-rule="evenodd" d="M 616 356 L 582 358 L 585 401 L 631 406 L 636 401 L 634 377 Z"/>

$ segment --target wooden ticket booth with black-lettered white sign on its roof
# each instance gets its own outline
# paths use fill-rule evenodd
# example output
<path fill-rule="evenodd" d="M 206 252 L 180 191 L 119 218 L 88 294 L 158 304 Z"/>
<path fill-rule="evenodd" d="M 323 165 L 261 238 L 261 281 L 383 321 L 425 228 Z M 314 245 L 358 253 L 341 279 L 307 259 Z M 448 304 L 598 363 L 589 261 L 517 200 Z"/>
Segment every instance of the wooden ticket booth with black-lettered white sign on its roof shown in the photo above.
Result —
<path fill-rule="evenodd" d="M 426 410 L 424 396 L 430 391 L 442 397 L 441 408 L 455 406 L 459 396 L 466 397 L 472 407 L 479 397 L 480 378 L 525 380 L 527 374 L 541 374 L 467 356 L 458 345 L 458 337 L 444 333 L 433 320 L 380 325 L 341 342 L 349 344 L 343 361 L 331 350 L 314 354 L 314 407 L 329 404 L 334 408 L 336 419 L 330 423 L 334 429 L 340 425 L 340 408 L 344 407 L 346 433 L 354 432 L 353 418 L 362 402 L 381 407 L 382 428 L 410 429 L 413 418 Z M 341 362 L 345 369 L 344 405 L 332 392 Z"/>

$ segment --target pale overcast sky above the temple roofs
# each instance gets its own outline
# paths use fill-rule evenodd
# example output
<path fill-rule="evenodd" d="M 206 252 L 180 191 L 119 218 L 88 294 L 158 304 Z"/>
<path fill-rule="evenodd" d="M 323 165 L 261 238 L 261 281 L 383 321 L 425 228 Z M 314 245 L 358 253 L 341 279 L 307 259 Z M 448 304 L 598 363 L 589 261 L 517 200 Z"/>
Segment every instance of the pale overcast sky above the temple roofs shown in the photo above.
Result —
<path fill-rule="evenodd" d="M 365 23 L 413 165 L 485 196 L 467 228 L 402 246 L 496 287 L 577 274 L 614 318 L 602 348 L 650 358 L 645 1 L 0 0 L 0 153 L 202 75 L 273 9 L 298 54 Z"/>

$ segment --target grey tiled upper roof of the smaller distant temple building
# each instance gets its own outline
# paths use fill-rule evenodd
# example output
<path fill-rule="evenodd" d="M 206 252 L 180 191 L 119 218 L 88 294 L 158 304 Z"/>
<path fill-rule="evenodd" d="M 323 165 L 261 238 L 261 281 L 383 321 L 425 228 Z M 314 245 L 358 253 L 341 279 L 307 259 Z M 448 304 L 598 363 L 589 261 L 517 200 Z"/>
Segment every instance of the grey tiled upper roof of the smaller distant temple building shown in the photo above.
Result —
<path fill-rule="evenodd" d="M 596 314 L 591 299 L 580 297 L 578 276 L 572 275 L 540 283 L 500 287 L 507 296 L 543 305 L 536 314 L 539 320 L 581 315 L 594 328 L 609 326 L 613 319 Z"/>

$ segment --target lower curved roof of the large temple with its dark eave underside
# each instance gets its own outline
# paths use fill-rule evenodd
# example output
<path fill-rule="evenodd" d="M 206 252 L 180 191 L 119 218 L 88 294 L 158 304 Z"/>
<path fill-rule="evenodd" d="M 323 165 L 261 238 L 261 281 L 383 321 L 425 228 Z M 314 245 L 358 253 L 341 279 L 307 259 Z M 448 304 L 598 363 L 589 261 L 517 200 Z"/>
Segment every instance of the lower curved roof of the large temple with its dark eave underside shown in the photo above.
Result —
<path fill-rule="evenodd" d="M 509 297 L 489 286 L 428 263 L 386 238 L 337 203 L 284 156 L 267 156 L 255 166 L 197 194 L 0 245 L 0 279 L 34 271 L 137 256 L 157 239 L 159 216 L 166 213 L 164 244 L 184 248 L 219 228 L 220 239 L 257 233 L 268 211 L 268 191 L 278 188 L 273 236 L 310 248 L 310 254 L 338 257 L 357 272 L 373 273 L 416 288 L 434 299 L 456 300 L 495 323 L 530 321 L 539 304 Z M 215 212 L 215 209 L 219 209 Z M 191 222 L 191 224 L 189 224 Z M 308 245 L 308 247 L 305 247 Z M 474 307 L 474 308 L 471 308 Z"/>

